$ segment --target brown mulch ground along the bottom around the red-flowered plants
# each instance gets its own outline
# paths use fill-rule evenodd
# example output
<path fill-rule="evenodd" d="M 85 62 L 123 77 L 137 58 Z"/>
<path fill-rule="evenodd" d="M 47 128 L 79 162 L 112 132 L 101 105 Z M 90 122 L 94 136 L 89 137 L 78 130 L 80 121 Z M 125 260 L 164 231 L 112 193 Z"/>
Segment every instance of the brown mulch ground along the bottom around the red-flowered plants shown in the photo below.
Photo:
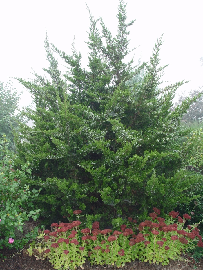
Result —
<path fill-rule="evenodd" d="M 43 260 L 36 260 L 34 256 L 29 256 L 26 249 L 15 253 L 12 250 L 4 250 L 3 255 L 7 258 L 0 258 L 0 269 L 1 270 L 54 270 L 50 262 Z M 80 268 L 78 268 L 79 270 Z M 84 265 L 84 270 L 105 270 L 106 267 L 102 266 L 90 266 L 88 261 Z M 115 268 L 117 269 L 117 268 Z M 152 264 L 148 262 L 139 262 L 138 260 L 131 263 L 126 263 L 125 270 L 202 270 L 203 261 L 197 264 L 170 261 L 166 266 Z"/>

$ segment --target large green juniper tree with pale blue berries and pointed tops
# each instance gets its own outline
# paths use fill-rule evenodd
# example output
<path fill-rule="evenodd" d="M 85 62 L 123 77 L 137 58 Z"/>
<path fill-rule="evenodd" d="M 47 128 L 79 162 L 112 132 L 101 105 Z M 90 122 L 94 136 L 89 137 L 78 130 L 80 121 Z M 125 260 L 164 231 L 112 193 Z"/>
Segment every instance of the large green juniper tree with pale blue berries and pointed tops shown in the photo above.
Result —
<path fill-rule="evenodd" d="M 160 87 L 166 67 L 160 66 L 162 36 L 148 63 L 136 69 L 133 59 L 124 61 L 132 51 L 127 29 L 134 23 L 126 22 L 125 8 L 120 0 L 116 37 L 89 11 L 88 69 L 82 68 L 74 42 L 66 54 L 50 45 L 46 34 L 49 67 L 44 71 L 50 79 L 35 72 L 32 81 L 17 78 L 36 107 L 23 112 L 33 126 L 21 125 L 16 145 L 32 169 L 26 183 L 43 188 L 36 203 L 52 220 L 78 208 L 102 214 L 107 223 L 128 212 L 143 218 L 155 205 L 168 211 L 193 198 L 197 180 L 181 170 L 176 140 L 182 115 L 196 97 L 171 112 L 175 91 L 184 82 Z M 55 54 L 67 65 L 64 76 Z M 140 73 L 142 80 L 133 83 Z"/>

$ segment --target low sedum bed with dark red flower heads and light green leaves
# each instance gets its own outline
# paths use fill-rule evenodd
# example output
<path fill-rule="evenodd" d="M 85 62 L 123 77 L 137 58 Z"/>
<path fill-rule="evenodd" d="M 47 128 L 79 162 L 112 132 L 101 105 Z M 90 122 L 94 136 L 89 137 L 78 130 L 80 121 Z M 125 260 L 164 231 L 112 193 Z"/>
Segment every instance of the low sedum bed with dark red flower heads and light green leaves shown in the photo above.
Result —
<path fill-rule="evenodd" d="M 203 247 L 198 224 L 184 228 L 184 223 L 191 219 L 188 214 L 182 218 L 178 212 L 171 211 L 165 220 L 158 217 L 159 209 L 154 207 L 153 210 L 155 212 L 150 213 L 150 218 L 138 226 L 135 227 L 135 221 L 128 218 L 130 227 L 122 224 L 113 234 L 111 229 L 99 229 L 98 221 L 91 225 L 91 229 L 81 229 L 79 220 L 52 223 L 52 232 L 41 232 L 27 251 L 37 258 L 48 257 L 55 269 L 65 270 L 83 268 L 86 257 L 91 265 L 108 268 L 124 267 L 126 262 L 136 258 L 150 264 L 167 265 L 169 259 L 179 260 L 181 252 L 185 254 L 196 246 Z M 74 212 L 79 215 L 82 211 Z"/>

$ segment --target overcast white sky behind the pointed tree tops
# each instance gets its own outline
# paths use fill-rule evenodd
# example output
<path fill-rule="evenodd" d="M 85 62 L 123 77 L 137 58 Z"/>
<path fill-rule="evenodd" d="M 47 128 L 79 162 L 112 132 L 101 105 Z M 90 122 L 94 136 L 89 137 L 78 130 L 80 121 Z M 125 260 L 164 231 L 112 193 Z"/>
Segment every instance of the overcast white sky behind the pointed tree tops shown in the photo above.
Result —
<path fill-rule="evenodd" d="M 95 19 L 102 16 L 106 27 L 113 35 L 117 32 L 117 7 L 119 0 L 86 0 Z M 9 77 L 34 78 L 31 67 L 43 75 L 48 67 L 44 50 L 45 31 L 49 41 L 58 49 L 71 53 L 75 34 L 75 47 L 82 54 L 82 65 L 86 66 L 88 48 L 89 16 L 84 0 L 10 0 L 0 1 L 0 81 Z M 128 0 L 128 20 L 137 19 L 129 27 L 130 47 L 139 46 L 133 54 L 148 61 L 154 41 L 164 33 L 164 44 L 160 51 L 165 69 L 164 80 L 177 82 L 190 80 L 180 89 L 189 91 L 203 86 L 203 1 L 194 0 Z M 61 66 L 64 71 L 64 67 Z M 23 87 L 14 79 L 14 87 Z M 23 94 L 20 105 L 31 102 L 30 95 Z"/>

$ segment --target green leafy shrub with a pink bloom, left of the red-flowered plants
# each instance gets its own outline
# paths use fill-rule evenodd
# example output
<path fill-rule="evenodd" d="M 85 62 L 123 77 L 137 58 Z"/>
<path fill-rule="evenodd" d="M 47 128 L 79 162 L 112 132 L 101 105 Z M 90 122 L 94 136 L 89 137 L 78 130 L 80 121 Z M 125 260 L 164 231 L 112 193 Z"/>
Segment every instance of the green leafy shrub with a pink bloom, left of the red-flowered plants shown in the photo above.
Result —
<path fill-rule="evenodd" d="M 19 249 L 37 234 L 38 228 L 26 231 L 24 221 L 38 218 L 40 210 L 34 210 L 33 200 L 40 190 L 30 191 L 28 185 L 21 185 L 25 172 L 31 173 L 31 170 L 28 163 L 22 170 L 14 170 L 16 156 L 8 151 L 8 146 L 6 135 L 3 135 L 0 140 L 0 248 Z"/>

